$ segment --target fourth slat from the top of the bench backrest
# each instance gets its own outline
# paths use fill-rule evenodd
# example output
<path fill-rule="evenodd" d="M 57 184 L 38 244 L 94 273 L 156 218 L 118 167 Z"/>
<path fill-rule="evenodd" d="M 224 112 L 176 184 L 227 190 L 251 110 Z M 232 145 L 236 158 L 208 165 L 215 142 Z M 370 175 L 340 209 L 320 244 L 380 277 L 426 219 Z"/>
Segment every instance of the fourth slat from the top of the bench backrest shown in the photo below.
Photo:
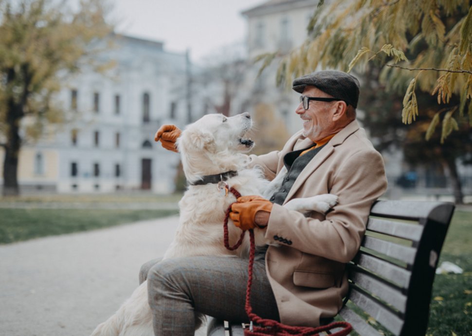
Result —
<path fill-rule="evenodd" d="M 382 278 L 396 283 L 400 288 L 408 288 L 411 273 L 404 268 L 363 252 L 359 252 L 354 259 L 354 262 L 359 266 L 378 274 Z"/>

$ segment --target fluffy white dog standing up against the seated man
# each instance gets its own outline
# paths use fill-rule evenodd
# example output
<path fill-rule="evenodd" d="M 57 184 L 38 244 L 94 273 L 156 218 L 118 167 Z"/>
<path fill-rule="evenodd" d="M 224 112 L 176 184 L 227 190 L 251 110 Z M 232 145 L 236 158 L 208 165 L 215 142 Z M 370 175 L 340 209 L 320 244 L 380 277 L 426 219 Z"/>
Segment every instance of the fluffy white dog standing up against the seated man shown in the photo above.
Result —
<path fill-rule="evenodd" d="M 177 140 L 177 147 L 182 156 L 183 171 L 189 187 L 179 202 L 179 226 L 164 259 L 247 255 L 249 239 L 236 251 L 229 251 L 223 244 L 222 225 L 225 211 L 236 201 L 232 193 L 226 192 L 226 187 L 234 187 L 241 195 L 262 195 L 269 198 L 286 173 L 282 172 L 283 175 L 279 174 L 269 184 L 260 169 L 245 168 L 248 156 L 243 153 L 254 146 L 252 140 L 244 138 L 251 127 L 249 113 L 233 117 L 207 114 L 188 125 L 182 132 Z M 326 212 L 336 203 L 336 196 L 326 194 L 292 200 L 286 206 L 302 212 Z M 236 243 L 241 234 L 240 229 L 229 224 L 228 230 L 229 241 Z M 266 243 L 261 229 L 256 228 L 254 234 L 256 245 Z M 101 323 L 92 333 L 92 336 L 153 335 L 146 281 L 112 317 Z"/>

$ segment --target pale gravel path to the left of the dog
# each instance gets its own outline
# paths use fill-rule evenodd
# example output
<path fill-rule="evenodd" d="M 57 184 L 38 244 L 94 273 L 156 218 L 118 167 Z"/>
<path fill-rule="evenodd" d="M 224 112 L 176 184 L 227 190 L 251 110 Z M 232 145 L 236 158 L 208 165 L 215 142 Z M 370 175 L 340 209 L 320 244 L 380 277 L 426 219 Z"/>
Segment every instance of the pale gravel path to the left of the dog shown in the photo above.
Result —
<path fill-rule="evenodd" d="M 163 255 L 177 223 L 168 217 L 0 245 L 0 335 L 90 335 L 137 287 L 141 265 Z"/>

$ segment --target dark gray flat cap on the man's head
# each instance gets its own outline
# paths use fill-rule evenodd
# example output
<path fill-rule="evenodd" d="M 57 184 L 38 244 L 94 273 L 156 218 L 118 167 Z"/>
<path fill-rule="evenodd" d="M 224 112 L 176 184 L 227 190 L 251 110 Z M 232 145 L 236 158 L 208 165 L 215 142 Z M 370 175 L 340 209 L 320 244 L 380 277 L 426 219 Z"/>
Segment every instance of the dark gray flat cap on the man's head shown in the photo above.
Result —
<path fill-rule="evenodd" d="M 315 71 L 293 80 L 292 89 L 303 93 L 307 86 L 314 86 L 334 98 L 344 100 L 347 105 L 357 108 L 359 81 L 353 75 L 337 70 Z"/>

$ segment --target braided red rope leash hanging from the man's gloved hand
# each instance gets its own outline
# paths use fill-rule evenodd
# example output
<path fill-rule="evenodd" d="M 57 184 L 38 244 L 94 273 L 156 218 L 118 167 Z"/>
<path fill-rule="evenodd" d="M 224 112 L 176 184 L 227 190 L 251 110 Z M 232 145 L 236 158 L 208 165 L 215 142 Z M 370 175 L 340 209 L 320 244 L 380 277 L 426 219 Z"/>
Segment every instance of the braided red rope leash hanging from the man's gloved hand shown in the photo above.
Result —
<path fill-rule="evenodd" d="M 236 198 L 240 197 L 241 194 L 233 187 L 230 190 Z M 238 248 L 243 239 L 245 231 L 241 233 L 238 242 L 234 246 L 230 246 L 229 244 L 229 237 L 228 237 L 228 218 L 229 213 L 231 212 L 231 205 L 228 207 L 225 213 L 225 219 L 223 224 L 224 230 L 224 245 L 227 249 L 233 251 Z M 251 248 L 249 251 L 249 265 L 248 265 L 248 285 L 246 287 L 246 314 L 248 315 L 249 319 L 251 320 L 250 328 L 244 329 L 244 335 L 246 336 L 266 336 L 266 335 L 274 335 L 274 336 L 319 336 L 320 332 L 329 331 L 334 328 L 343 328 L 342 330 L 330 334 L 331 336 L 346 336 L 352 330 L 352 326 L 345 321 L 337 321 L 332 322 L 327 325 L 322 325 L 319 327 L 294 327 L 290 325 L 286 325 L 280 323 L 278 321 L 272 319 L 266 319 L 257 316 L 253 313 L 253 309 L 251 307 L 251 287 L 253 284 L 253 265 L 254 265 L 254 254 L 255 254 L 255 243 L 254 243 L 254 231 L 249 230 L 249 238 L 251 242 Z M 258 326 L 253 326 L 253 323 L 258 324 Z"/>

